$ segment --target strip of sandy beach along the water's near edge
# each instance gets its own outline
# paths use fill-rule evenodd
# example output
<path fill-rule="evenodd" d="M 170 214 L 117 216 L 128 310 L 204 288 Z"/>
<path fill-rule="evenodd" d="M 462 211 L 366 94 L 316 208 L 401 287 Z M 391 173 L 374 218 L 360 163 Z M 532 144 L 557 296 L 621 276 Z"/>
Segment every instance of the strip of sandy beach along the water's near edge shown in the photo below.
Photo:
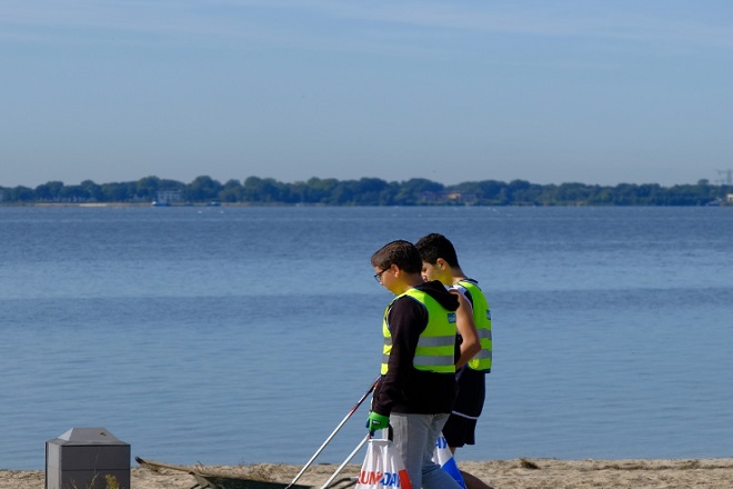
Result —
<path fill-rule="evenodd" d="M 495 489 L 730 489 L 733 458 L 689 460 L 554 460 L 518 459 L 461 461 L 459 466 Z M 191 466 L 192 471 L 289 483 L 302 466 Z M 343 469 L 339 478 L 355 476 L 359 465 Z M 320 488 L 337 466 L 310 467 L 298 481 Z M 338 478 L 337 478 L 338 479 Z M 180 470 L 152 470 L 133 462 L 132 489 L 191 489 L 192 475 Z M 0 489 L 42 489 L 42 470 L 0 470 Z"/>

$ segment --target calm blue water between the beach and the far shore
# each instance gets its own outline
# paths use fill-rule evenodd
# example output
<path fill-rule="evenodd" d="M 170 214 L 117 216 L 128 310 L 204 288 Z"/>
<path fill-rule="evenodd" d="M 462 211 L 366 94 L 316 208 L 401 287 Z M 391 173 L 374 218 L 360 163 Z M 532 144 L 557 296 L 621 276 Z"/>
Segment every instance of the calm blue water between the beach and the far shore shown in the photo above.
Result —
<path fill-rule="evenodd" d="M 74 427 L 171 463 L 304 463 L 378 373 L 391 296 L 369 257 L 433 231 L 494 318 L 459 458 L 733 456 L 733 208 L 0 208 L 0 468 L 42 469 Z"/>

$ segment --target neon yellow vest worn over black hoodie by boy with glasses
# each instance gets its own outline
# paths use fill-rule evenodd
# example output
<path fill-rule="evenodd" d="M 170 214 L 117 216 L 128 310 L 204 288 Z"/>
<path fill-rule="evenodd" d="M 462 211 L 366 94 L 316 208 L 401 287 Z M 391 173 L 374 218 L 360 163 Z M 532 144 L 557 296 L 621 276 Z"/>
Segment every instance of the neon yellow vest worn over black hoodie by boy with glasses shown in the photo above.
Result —
<path fill-rule="evenodd" d="M 428 309 L 428 326 L 420 333 L 412 366 L 418 370 L 429 372 L 455 373 L 455 312 L 446 310 L 430 295 L 418 289 L 409 289 L 394 300 L 402 296 L 411 297 Z M 392 335 L 386 325 L 386 316 L 394 300 L 384 310 L 382 321 L 382 333 L 384 335 L 382 375 L 388 371 L 388 361 L 392 351 Z"/>

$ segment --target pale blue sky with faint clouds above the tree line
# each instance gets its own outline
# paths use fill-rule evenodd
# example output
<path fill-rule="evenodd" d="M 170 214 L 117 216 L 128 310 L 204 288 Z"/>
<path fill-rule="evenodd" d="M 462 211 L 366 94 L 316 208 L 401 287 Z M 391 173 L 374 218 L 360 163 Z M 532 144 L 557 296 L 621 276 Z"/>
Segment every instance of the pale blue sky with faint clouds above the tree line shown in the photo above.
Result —
<path fill-rule="evenodd" d="M 0 187 L 719 183 L 732 127 L 730 0 L 0 0 Z"/>

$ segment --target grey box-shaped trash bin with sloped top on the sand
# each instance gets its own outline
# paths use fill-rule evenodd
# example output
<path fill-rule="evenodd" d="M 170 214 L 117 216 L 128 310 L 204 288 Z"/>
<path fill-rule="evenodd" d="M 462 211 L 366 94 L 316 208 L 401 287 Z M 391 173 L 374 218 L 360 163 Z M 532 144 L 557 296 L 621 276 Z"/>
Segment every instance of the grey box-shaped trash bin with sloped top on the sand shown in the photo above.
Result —
<path fill-rule="evenodd" d="M 130 445 L 104 428 L 72 428 L 46 442 L 46 489 L 130 489 Z"/>

